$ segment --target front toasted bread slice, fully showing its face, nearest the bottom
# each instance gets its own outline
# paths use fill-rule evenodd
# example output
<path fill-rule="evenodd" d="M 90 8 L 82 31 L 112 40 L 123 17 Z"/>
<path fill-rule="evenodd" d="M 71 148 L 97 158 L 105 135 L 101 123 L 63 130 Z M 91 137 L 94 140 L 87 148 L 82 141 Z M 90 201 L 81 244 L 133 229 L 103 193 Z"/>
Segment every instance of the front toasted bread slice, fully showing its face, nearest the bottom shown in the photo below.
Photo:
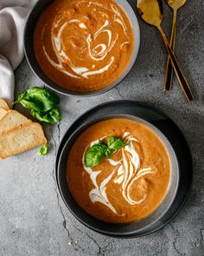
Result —
<path fill-rule="evenodd" d="M 41 125 L 37 122 L 26 123 L 0 135 L 0 158 L 5 159 L 46 143 Z"/>

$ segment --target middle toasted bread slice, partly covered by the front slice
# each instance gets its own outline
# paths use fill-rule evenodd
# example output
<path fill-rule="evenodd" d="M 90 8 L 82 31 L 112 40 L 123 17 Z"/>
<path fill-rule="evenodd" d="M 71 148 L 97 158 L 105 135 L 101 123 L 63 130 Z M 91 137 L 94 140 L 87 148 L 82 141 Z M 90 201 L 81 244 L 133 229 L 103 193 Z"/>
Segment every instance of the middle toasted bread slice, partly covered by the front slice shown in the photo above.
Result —
<path fill-rule="evenodd" d="M 9 110 L 0 121 L 0 135 L 3 132 L 8 132 L 17 126 L 22 126 L 23 124 L 29 122 L 31 122 L 31 120 L 16 110 Z"/>

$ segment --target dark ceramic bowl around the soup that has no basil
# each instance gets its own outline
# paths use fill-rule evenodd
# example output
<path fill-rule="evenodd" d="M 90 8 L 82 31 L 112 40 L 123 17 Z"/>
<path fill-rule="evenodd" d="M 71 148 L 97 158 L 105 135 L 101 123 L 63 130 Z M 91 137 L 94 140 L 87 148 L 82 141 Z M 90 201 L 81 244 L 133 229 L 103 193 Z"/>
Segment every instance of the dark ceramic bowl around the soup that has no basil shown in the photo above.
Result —
<path fill-rule="evenodd" d="M 24 51 L 25 56 L 27 58 L 27 61 L 29 62 L 30 68 L 34 71 L 35 75 L 37 75 L 42 82 L 48 85 L 49 88 L 54 89 L 54 91 L 57 91 L 64 95 L 80 95 L 80 96 L 92 96 L 92 95 L 99 95 L 101 93 L 104 93 L 105 91 L 112 89 L 113 87 L 117 86 L 119 82 L 122 82 L 126 75 L 128 75 L 134 66 L 134 63 L 136 62 L 139 47 L 140 47 L 140 30 L 139 30 L 139 24 L 137 21 L 137 16 L 133 9 L 131 8 L 130 3 L 126 0 L 114 0 L 116 3 L 118 3 L 122 9 L 125 11 L 126 15 L 129 17 L 129 20 L 131 22 L 132 28 L 133 28 L 133 34 L 135 38 L 135 47 L 133 49 L 133 54 L 131 56 L 131 60 L 127 66 L 127 68 L 124 70 L 124 72 L 120 75 L 117 81 L 112 82 L 112 84 L 108 85 L 104 89 L 95 90 L 92 92 L 78 92 L 73 91 L 69 89 L 64 89 L 57 83 L 53 82 L 48 78 L 47 75 L 44 74 L 44 72 L 41 70 L 40 65 L 38 64 L 36 58 L 35 58 L 35 50 L 34 50 L 34 43 L 33 43 L 33 36 L 34 36 L 34 30 L 35 30 L 35 24 L 37 23 L 37 20 L 39 16 L 41 15 L 41 12 L 45 10 L 45 8 L 52 3 L 54 0 L 39 0 L 33 10 L 31 10 L 26 26 L 25 26 L 25 32 L 24 32 Z"/>

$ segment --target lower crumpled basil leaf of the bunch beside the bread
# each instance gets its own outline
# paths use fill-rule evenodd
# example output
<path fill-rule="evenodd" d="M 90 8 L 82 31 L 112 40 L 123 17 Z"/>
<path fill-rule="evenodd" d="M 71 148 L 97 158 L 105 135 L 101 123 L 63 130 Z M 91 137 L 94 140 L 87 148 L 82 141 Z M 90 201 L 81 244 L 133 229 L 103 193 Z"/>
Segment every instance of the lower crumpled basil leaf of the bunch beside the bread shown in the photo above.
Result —
<path fill-rule="evenodd" d="M 37 112 L 35 109 L 30 110 L 30 114 L 33 115 L 37 120 L 54 124 L 55 122 L 61 121 L 61 112 L 59 108 L 53 108 L 47 112 Z"/>

